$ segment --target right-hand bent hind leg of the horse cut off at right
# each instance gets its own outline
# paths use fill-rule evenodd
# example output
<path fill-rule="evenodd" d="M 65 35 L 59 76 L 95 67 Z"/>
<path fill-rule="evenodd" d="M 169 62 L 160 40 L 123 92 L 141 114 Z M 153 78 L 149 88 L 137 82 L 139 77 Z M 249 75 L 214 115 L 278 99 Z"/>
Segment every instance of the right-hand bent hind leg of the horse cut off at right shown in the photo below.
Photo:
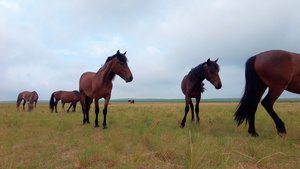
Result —
<path fill-rule="evenodd" d="M 269 115 L 272 117 L 273 121 L 276 124 L 277 134 L 281 136 L 281 134 L 286 134 L 286 129 L 283 121 L 279 118 L 279 116 L 275 113 L 273 109 L 274 102 L 278 99 L 281 93 L 284 91 L 284 88 L 269 88 L 269 92 L 267 96 L 262 100 L 261 104 L 267 110 Z"/>

